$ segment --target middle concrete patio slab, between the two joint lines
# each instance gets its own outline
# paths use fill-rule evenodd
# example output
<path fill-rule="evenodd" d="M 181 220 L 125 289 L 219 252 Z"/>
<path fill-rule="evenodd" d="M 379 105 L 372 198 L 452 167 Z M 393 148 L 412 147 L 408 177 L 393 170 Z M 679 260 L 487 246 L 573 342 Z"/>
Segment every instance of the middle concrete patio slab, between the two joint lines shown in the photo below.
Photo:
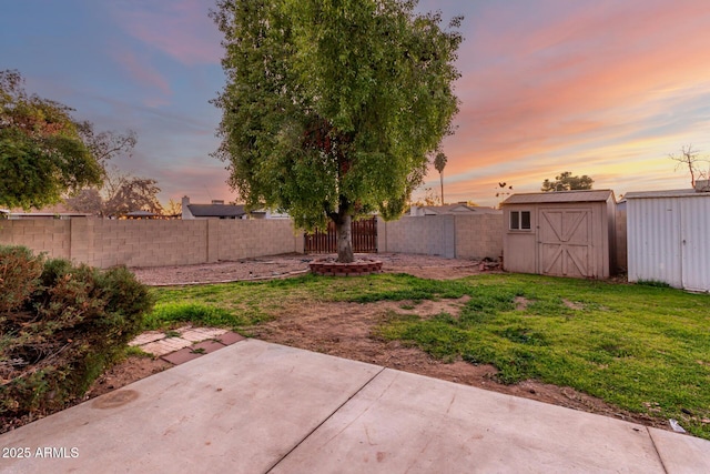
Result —
<path fill-rule="evenodd" d="M 645 426 L 385 370 L 274 473 L 663 473 Z"/>

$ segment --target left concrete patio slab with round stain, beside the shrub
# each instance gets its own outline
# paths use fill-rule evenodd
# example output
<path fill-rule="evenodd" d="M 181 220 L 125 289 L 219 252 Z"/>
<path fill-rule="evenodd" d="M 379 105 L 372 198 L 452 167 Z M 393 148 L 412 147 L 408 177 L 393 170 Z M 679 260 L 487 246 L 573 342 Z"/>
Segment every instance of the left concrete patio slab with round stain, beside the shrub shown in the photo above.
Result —
<path fill-rule="evenodd" d="M 32 454 L 0 471 L 266 472 L 381 371 L 242 341 L 0 435 Z"/>

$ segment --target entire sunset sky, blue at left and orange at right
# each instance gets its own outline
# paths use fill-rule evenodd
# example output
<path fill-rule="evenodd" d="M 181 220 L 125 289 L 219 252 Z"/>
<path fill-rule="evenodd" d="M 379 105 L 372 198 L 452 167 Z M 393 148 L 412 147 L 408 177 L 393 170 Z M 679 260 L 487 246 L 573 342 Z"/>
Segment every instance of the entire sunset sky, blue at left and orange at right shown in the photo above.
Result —
<path fill-rule="evenodd" d="M 161 200 L 232 201 L 210 157 L 224 85 L 213 0 L 1 0 L 0 70 L 98 130 L 135 130 L 114 164 Z M 495 205 L 498 182 L 539 191 L 562 171 L 596 189 L 688 188 L 669 153 L 710 157 L 710 0 L 423 0 L 463 14 L 448 202 Z M 706 164 L 707 169 L 707 164 Z M 438 193 L 432 169 L 426 186 Z M 416 196 L 423 195 L 419 190 Z"/>

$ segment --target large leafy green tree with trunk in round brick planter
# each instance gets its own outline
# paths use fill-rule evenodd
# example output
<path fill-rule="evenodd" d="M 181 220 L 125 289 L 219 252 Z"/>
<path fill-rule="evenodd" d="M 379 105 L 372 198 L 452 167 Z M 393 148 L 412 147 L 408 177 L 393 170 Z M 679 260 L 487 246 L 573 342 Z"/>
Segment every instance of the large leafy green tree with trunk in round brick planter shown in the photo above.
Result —
<path fill-rule="evenodd" d="M 452 132 L 462 41 L 403 0 L 217 0 L 227 77 L 215 155 L 247 206 L 331 219 L 338 261 L 353 218 L 402 214 Z"/>

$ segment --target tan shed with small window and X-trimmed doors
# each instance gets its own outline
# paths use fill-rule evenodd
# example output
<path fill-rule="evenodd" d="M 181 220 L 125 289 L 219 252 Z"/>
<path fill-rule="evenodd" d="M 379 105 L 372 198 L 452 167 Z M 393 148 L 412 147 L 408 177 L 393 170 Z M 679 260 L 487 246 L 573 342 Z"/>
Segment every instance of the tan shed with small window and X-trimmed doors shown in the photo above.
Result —
<path fill-rule="evenodd" d="M 505 270 L 595 279 L 616 270 L 613 191 L 514 194 L 501 206 Z"/>

